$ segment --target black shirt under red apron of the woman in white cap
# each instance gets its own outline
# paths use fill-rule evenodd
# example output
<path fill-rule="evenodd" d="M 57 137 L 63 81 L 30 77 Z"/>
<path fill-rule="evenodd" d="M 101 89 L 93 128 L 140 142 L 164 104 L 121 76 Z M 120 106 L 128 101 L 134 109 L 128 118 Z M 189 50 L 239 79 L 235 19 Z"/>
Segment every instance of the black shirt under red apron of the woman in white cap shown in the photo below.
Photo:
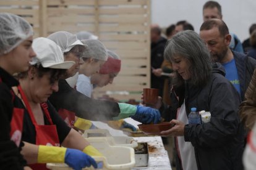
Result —
<path fill-rule="evenodd" d="M 47 102 L 49 115 L 53 121 L 53 124 L 56 124 L 56 129 L 59 137 L 59 144 L 62 144 L 63 140 L 67 137 L 70 132 L 70 127 L 64 122 L 64 120 L 59 116 L 58 112 L 55 110 L 51 103 Z M 23 103 L 20 100 L 20 106 L 25 108 Z M 23 132 L 22 132 L 22 140 L 25 142 L 29 142 L 31 144 L 36 144 L 36 132 L 35 126 L 32 123 L 30 115 L 28 111 L 25 110 L 23 118 Z M 44 114 L 45 125 L 49 125 L 49 121 Z"/>

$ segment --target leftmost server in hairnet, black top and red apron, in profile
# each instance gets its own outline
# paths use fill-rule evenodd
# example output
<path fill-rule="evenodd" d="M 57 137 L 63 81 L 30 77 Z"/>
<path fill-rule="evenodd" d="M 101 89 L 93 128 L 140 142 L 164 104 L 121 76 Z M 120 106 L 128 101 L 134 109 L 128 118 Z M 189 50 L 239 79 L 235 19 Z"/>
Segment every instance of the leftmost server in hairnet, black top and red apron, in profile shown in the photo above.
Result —
<path fill-rule="evenodd" d="M 26 165 L 20 155 L 23 110 L 17 108 L 11 87 L 19 84 L 12 75 L 27 71 L 35 57 L 32 35 L 33 28 L 26 20 L 0 13 L 0 169 L 24 169 Z"/>

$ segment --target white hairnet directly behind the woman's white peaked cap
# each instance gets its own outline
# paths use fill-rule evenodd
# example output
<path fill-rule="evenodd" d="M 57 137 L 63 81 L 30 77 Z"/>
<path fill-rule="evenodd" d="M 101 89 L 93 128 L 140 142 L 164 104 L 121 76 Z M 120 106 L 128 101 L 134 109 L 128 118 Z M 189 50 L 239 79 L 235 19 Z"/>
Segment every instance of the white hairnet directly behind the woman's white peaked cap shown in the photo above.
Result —
<path fill-rule="evenodd" d="M 63 53 L 69 52 L 74 46 L 77 45 L 85 46 L 79 39 L 77 39 L 75 34 L 71 34 L 66 31 L 58 31 L 56 33 L 52 33 L 48 36 L 48 39 L 51 39 L 56 44 L 58 44 L 58 46 L 61 47 L 61 51 Z"/>

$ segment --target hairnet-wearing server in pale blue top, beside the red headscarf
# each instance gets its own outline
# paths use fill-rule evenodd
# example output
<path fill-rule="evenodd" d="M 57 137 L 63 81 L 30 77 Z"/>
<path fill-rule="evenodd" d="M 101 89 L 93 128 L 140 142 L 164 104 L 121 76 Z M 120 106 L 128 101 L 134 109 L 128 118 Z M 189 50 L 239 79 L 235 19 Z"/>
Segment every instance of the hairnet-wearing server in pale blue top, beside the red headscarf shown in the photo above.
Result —
<path fill-rule="evenodd" d="M 77 79 L 77 91 L 92 97 L 92 84 L 90 76 L 100 71 L 100 67 L 108 59 L 106 47 L 96 39 L 84 39 L 83 44 L 88 47 L 83 52 L 85 63 L 80 67 L 79 77 Z"/>

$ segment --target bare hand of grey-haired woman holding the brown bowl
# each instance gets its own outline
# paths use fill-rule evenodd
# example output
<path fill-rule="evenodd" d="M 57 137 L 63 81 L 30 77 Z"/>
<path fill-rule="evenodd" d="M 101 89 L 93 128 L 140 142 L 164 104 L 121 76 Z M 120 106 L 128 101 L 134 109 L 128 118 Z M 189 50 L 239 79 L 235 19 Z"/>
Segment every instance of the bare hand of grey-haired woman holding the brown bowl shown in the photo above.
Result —
<path fill-rule="evenodd" d="M 170 123 L 173 124 L 173 127 L 171 129 L 168 129 L 167 131 L 161 131 L 160 136 L 184 136 L 184 123 L 176 119 L 172 119 Z"/>

